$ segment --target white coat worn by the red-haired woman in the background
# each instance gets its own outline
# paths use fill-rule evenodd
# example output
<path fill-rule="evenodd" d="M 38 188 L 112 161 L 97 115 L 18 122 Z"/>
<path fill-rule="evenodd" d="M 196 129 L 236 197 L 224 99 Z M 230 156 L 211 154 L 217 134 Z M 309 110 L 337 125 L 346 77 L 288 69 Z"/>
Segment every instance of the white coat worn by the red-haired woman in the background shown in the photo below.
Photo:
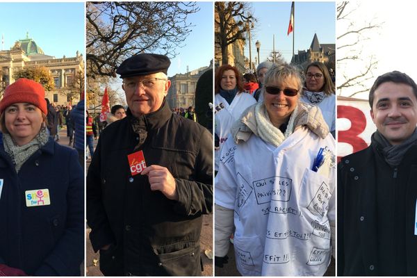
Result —
<path fill-rule="evenodd" d="M 215 113 L 215 127 L 214 132 L 220 138 L 220 148 L 215 149 L 215 167 L 214 169 L 218 170 L 218 163 L 219 163 L 219 156 L 220 150 L 222 149 L 222 145 L 227 140 L 227 136 L 229 136 L 230 128 L 236 120 L 240 118 L 240 115 L 245 111 L 246 108 L 251 106 L 252 104 L 256 104 L 256 99 L 252 97 L 252 95 L 242 92 L 240 94 L 236 94 L 233 101 L 229 105 L 220 94 L 216 94 L 214 97 L 214 104 L 215 108 L 219 108 L 220 104 L 223 104 L 224 108 L 220 111 L 216 111 Z M 216 109 L 217 110 L 217 109 Z"/>

